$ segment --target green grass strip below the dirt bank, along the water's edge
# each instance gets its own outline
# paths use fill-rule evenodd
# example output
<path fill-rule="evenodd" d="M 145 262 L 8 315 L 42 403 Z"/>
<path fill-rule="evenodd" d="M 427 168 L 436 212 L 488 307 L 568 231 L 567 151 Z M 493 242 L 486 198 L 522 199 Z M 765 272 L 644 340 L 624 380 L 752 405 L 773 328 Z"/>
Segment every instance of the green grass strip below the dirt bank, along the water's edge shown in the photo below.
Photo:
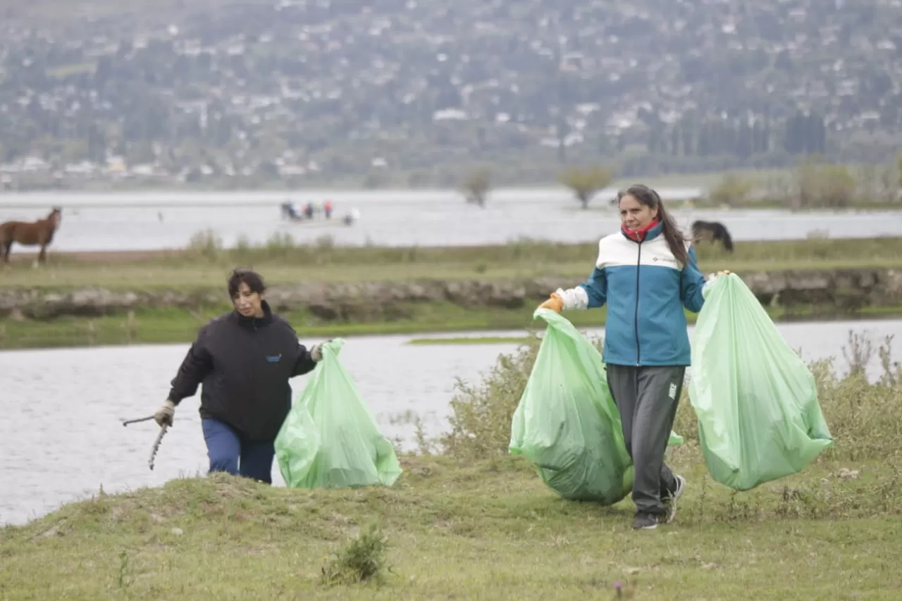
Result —
<path fill-rule="evenodd" d="M 518 309 L 482 307 L 468 309 L 456 304 L 398 303 L 393 311 L 405 317 L 380 318 L 373 315 L 354 322 L 325 321 L 306 310 L 281 313 L 298 330 L 303 341 L 320 338 L 370 336 L 384 334 L 421 334 L 428 332 L 464 332 L 492 330 L 526 330 L 533 328 L 532 313 L 538 302 Z M 66 316 L 58 319 L 0 319 L 0 349 L 89 347 L 95 345 L 128 345 L 187 343 L 197 336 L 198 328 L 207 320 L 228 310 L 228 305 L 206 310 L 137 310 L 132 315 L 100 318 Z M 797 307 L 792 310 L 766 307 L 777 321 L 801 319 L 858 319 L 902 316 L 902 307 L 865 308 L 853 315 L 838 312 L 833 305 Z M 606 310 L 570 311 L 566 314 L 579 328 L 600 328 Z M 695 323 L 697 315 L 686 312 Z M 419 344 L 462 344 L 460 338 L 446 341 L 421 341 Z"/>

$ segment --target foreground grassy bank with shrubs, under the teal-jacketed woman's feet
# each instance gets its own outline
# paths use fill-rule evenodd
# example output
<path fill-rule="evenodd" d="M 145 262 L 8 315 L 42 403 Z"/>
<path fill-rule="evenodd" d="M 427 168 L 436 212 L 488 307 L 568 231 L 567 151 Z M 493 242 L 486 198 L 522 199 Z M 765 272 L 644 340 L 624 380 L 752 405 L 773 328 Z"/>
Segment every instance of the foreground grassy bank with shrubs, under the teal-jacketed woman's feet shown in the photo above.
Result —
<path fill-rule="evenodd" d="M 0 597 L 31 599 L 896 599 L 902 594 L 902 373 L 813 365 L 834 447 L 733 493 L 707 476 L 684 397 L 668 461 L 676 522 L 630 530 L 629 499 L 561 500 L 507 456 L 536 356 L 459 384 L 448 434 L 391 488 L 291 490 L 230 476 L 98 494 L 0 530 Z M 888 354 L 887 349 L 883 349 Z M 424 444 L 424 450 L 429 445 Z M 373 524 L 374 529 L 369 526 Z"/>

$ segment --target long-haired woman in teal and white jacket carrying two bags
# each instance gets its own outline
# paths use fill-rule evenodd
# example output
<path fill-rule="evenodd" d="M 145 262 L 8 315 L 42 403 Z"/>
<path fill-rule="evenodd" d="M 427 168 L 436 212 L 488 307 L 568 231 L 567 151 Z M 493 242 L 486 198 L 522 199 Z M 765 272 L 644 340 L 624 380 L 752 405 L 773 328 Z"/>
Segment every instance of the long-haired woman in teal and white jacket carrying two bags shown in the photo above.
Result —
<path fill-rule="evenodd" d="M 633 528 L 652 529 L 674 519 L 686 487 L 664 463 L 664 452 L 690 364 L 684 308 L 702 309 L 705 278 L 658 192 L 634 185 L 617 202 L 621 231 L 598 243 L 588 280 L 557 290 L 541 307 L 560 312 L 607 304 L 603 361 L 635 466 Z"/>

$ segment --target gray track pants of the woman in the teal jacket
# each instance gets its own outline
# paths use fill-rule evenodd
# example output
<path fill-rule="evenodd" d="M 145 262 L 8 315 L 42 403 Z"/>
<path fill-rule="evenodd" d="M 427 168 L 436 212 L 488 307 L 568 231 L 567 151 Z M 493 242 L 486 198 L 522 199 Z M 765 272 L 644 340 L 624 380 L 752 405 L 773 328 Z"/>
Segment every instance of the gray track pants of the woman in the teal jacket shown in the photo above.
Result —
<path fill-rule="evenodd" d="M 664 513 L 662 496 L 676 490 L 676 478 L 664 463 L 667 440 L 683 389 L 682 365 L 606 365 L 623 422 L 623 439 L 635 467 L 632 501 L 636 512 Z"/>

